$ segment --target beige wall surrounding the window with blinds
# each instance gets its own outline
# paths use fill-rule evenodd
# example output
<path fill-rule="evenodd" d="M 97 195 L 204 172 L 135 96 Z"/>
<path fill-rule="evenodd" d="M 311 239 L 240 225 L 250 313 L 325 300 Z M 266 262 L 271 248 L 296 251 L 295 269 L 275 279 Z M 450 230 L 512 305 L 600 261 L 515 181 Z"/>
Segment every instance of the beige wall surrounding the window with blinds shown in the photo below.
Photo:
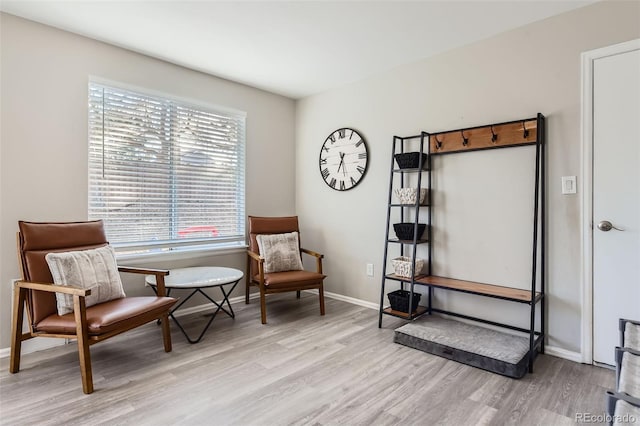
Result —
<path fill-rule="evenodd" d="M 10 282 L 19 275 L 17 221 L 87 217 L 89 76 L 247 112 L 247 213 L 295 212 L 291 99 L 7 14 L 0 27 L 0 348 L 9 346 Z M 232 254 L 149 266 L 244 262 Z M 125 290 L 137 293 L 134 284 L 139 280 Z"/>

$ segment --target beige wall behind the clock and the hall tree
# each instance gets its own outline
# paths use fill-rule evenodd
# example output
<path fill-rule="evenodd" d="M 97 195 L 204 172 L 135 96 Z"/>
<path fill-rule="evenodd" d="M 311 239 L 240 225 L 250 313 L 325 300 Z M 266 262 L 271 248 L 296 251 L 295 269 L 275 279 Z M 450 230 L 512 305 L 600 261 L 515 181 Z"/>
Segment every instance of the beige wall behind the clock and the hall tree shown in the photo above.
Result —
<path fill-rule="evenodd" d="M 560 177 L 581 176 L 580 54 L 638 37 L 640 3 L 606 1 L 299 101 L 296 211 L 303 227 L 313 230 L 305 231 L 305 245 L 326 254 L 326 289 L 379 301 L 393 135 L 542 112 L 548 127 L 548 341 L 579 352 L 580 203 L 579 195 L 560 193 Z M 328 188 L 318 172 L 319 149 L 340 127 L 362 132 L 370 152 L 367 175 L 346 193 Z M 527 286 L 527 167 L 533 163 L 527 149 L 436 161 L 436 273 Z M 373 278 L 365 274 L 369 262 L 375 264 Z M 521 306 L 467 295 L 440 300 L 471 314 L 526 324 Z"/>

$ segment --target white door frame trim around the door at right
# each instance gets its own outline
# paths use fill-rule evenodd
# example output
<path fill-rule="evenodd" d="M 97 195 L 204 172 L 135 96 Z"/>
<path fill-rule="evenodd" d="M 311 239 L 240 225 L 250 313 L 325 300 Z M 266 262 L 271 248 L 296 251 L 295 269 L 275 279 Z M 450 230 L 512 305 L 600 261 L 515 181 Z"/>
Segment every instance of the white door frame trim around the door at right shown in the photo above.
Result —
<path fill-rule="evenodd" d="M 582 283 L 582 362 L 593 364 L 593 65 L 596 59 L 640 49 L 640 39 L 583 52 L 581 99 L 582 210 L 580 213 L 580 253 Z M 611 331 L 612 333 L 615 330 Z"/>

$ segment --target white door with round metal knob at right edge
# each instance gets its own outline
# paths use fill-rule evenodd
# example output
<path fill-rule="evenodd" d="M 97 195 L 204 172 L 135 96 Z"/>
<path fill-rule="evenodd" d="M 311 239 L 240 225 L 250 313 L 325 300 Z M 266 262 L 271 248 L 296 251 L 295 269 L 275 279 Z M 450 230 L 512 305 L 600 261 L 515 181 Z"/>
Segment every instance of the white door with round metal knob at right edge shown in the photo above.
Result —
<path fill-rule="evenodd" d="M 640 320 L 640 50 L 593 63 L 593 360 Z"/>

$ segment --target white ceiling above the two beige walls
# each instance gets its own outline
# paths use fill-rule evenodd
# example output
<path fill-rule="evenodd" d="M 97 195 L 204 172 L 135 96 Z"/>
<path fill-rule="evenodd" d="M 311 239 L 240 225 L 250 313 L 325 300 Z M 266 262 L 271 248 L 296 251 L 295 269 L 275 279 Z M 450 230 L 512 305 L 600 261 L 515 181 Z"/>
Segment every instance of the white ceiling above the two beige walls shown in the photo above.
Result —
<path fill-rule="evenodd" d="M 1 0 L 0 10 L 301 98 L 593 2 Z"/>

